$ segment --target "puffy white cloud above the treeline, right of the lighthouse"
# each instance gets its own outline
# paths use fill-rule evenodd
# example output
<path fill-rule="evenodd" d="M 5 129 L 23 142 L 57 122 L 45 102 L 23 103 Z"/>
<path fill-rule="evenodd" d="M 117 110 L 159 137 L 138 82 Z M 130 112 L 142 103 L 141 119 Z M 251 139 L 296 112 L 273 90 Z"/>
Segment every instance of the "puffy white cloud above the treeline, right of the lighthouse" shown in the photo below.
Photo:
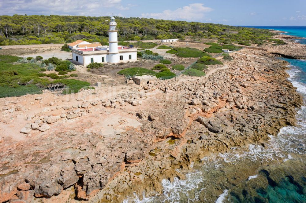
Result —
<path fill-rule="evenodd" d="M 203 20 L 206 13 L 213 9 L 205 7 L 204 4 L 194 3 L 178 8 L 176 10 L 164 10 L 162 13 L 142 13 L 142 17 L 163 20 Z"/>

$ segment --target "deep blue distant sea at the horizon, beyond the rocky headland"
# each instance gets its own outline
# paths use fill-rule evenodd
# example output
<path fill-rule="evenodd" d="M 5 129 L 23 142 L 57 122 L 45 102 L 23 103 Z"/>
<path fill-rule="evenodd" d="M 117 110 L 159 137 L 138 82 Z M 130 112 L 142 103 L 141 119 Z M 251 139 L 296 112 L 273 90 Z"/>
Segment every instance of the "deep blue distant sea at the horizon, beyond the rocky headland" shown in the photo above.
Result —
<path fill-rule="evenodd" d="M 306 38 L 306 26 L 241 26 L 241 27 L 254 27 L 269 30 L 284 31 L 288 35 L 293 35 L 301 38 Z M 301 44 L 306 44 L 306 39 L 297 40 Z"/>

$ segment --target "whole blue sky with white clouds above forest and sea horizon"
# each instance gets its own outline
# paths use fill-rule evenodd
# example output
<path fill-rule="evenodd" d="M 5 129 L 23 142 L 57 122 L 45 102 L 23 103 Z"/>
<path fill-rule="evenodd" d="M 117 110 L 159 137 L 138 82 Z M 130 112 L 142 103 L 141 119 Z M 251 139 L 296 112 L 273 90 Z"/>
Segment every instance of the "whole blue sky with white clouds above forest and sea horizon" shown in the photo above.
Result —
<path fill-rule="evenodd" d="M 226 25 L 306 26 L 306 0 L 0 0 L 0 15 L 145 17 Z"/>

